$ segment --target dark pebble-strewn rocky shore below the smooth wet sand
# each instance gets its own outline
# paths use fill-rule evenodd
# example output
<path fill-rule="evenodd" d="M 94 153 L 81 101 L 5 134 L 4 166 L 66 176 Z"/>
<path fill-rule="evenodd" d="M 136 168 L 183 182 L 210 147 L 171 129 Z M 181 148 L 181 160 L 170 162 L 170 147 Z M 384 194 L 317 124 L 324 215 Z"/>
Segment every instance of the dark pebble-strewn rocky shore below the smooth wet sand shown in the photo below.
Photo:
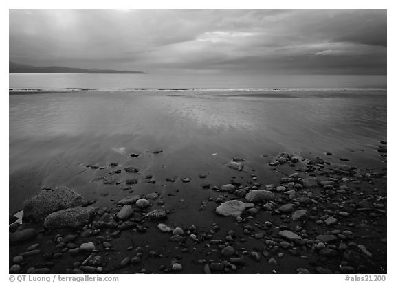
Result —
<path fill-rule="evenodd" d="M 380 148 L 386 144 L 378 148 L 386 152 Z M 154 163 L 172 158 L 166 150 L 160 151 L 146 154 Z M 129 157 L 132 163 L 139 158 Z M 11 231 L 33 228 L 36 233 L 17 246 L 10 245 L 10 273 L 272 273 L 272 269 L 277 273 L 386 273 L 386 168 L 354 168 L 329 158 L 307 160 L 282 152 L 270 157 L 269 170 L 282 173 L 273 184 L 240 157 L 218 168 L 230 176 L 220 183 L 211 181 L 215 172 L 177 177 L 168 172 L 168 177 L 157 178 L 144 170 L 128 172 L 126 164 L 101 169 L 86 163 L 90 172 L 110 172 L 94 182 L 103 183 L 100 199 L 110 198 L 107 203 L 113 204 L 103 207 L 100 199 L 88 199 L 96 214 L 83 229 L 11 225 Z M 237 170 L 232 162 L 241 163 L 243 169 Z M 141 194 L 135 181 L 126 185 L 122 176 L 152 189 Z M 136 199 L 146 199 L 148 207 L 137 205 L 135 199 L 131 216 L 120 218 L 125 205 L 119 203 L 121 197 L 112 196 L 115 186 L 124 197 L 139 194 Z M 272 196 L 247 199 L 250 192 L 262 190 Z M 199 196 L 192 201 L 195 205 L 185 206 L 186 197 L 193 195 Z M 217 214 L 222 203 L 233 199 L 254 205 L 237 217 Z M 164 210 L 166 217 L 147 218 L 153 210 Z M 104 215 L 113 224 L 100 226 Z M 159 229 L 161 223 L 164 231 Z M 65 242 L 65 238 L 73 240 Z M 93 243 L 94 249 L 86 249 L 87 243 Z"/>

